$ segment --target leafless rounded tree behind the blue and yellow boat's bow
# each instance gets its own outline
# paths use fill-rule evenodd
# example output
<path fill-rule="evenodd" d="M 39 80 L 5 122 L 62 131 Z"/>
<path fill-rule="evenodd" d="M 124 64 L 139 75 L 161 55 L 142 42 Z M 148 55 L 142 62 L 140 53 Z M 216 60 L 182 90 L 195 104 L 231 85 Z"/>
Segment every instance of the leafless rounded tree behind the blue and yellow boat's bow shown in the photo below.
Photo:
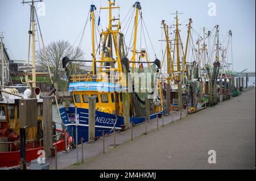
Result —
<path fill-rule="evenodd" d="M 52 41 L 46 47 L 46 54 L 49 62 L 49 68 L 53 74 L 53 83 L 60 80 L 64 73 L 62 58 L 67 56 L 71 60 L 80 60 L 84 57 L 84 52 L 79 47 L 72 47 L 69 41 L 59 40 Z M 44 50 L 41 49 L 36 53 L 36 61 L 44 70 L 48 70 Z"/>

